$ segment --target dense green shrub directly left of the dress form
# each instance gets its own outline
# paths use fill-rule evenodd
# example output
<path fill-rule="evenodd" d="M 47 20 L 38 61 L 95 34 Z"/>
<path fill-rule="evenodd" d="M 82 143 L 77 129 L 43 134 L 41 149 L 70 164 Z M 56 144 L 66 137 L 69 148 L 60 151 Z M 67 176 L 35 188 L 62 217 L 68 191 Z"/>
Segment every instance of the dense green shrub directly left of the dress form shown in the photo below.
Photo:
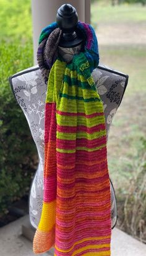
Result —
<path fill-rule="evenodd" d="M 33 65 L 32 41 L 0 45 L 0 216 L 28 193 L 37 150 L 24 113 L 14 99 L 9 76 Z"/>

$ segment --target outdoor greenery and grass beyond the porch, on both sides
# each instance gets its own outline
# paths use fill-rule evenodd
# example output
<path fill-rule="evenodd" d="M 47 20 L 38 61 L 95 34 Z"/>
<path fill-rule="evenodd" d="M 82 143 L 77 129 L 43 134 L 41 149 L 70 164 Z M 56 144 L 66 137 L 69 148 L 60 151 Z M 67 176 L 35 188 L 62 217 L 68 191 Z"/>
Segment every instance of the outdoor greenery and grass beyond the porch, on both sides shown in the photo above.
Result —
<path fill-rule="evenodd" d="M 146 0 L 92 1 L 100 63 L 129 75 L 108 138 L 116 227 L 146 243 Z M 9 76 L 33 66 L 30 0 L 0 0 L 0 226 L 28 196 L 38 156 Z M 29 156 L 29 157 L 28 157 Z"/>

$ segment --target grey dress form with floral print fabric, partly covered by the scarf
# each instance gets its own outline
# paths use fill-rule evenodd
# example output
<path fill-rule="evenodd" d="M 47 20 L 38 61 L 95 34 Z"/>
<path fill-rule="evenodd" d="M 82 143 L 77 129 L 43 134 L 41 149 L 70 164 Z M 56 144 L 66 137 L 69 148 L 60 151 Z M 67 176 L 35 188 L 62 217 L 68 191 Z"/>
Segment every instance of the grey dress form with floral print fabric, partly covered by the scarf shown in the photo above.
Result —
<path fill-rule="evenodd" d="M 70 62 L 74 54 L 79 53 L 81 45 L 73 48 L 59 47 L 59 54 Z M 99 65 L 92 72 L 97 91 L 103 101 L 106 119 L 106 138 L 108 139 L 109 128 L 114 114 L 121 104 L 124 91 L 127 86 L 128 77 L 125 74 L 113 71 L 112 69 Z M 27 118 L 32 137 L 38 150 L 39 164 L 32 181 L 29 196 L 30 223 L 37 228 L 43 205 L 43 169 L 44 169 L 44 118 L 45 118 L 45 97 L 46 84 L 41 77 L 38 66 L 15 74 L 10 78 L 12 91 L 15 99 L 22 108 Z M 116 198 L 111 183 L 111 205 L 112 205 L 112 226 L 117 219 Z"/>

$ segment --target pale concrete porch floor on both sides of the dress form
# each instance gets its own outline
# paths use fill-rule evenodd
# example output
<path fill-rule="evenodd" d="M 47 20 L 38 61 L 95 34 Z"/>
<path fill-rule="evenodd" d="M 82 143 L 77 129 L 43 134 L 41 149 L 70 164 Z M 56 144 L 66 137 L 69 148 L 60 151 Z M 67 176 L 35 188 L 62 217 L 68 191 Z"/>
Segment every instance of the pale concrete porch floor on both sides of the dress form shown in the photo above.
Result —
<path fill-rule="evenodd" d="M 28 215 L 0 228 L 0 256 L 34 256 L 32 242 L 22 236 L 22 224 Z M 44 256 L 54 256 L 53 249 Z M 111 256 L 146 256 L 146 245 L 114 227 L 111 236 Z"/>

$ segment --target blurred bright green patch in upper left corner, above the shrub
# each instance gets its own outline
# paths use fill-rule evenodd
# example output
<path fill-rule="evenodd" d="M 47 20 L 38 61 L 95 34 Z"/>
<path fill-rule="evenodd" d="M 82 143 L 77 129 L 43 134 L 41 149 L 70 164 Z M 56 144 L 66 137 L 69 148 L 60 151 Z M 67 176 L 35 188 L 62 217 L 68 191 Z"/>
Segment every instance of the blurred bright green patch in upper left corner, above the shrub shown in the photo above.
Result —
<path fill-rule="evenodd" d="M 32 37 L 31 1 L 1 0 L 0 22 L 1 38 L 7 41 Z"/>

